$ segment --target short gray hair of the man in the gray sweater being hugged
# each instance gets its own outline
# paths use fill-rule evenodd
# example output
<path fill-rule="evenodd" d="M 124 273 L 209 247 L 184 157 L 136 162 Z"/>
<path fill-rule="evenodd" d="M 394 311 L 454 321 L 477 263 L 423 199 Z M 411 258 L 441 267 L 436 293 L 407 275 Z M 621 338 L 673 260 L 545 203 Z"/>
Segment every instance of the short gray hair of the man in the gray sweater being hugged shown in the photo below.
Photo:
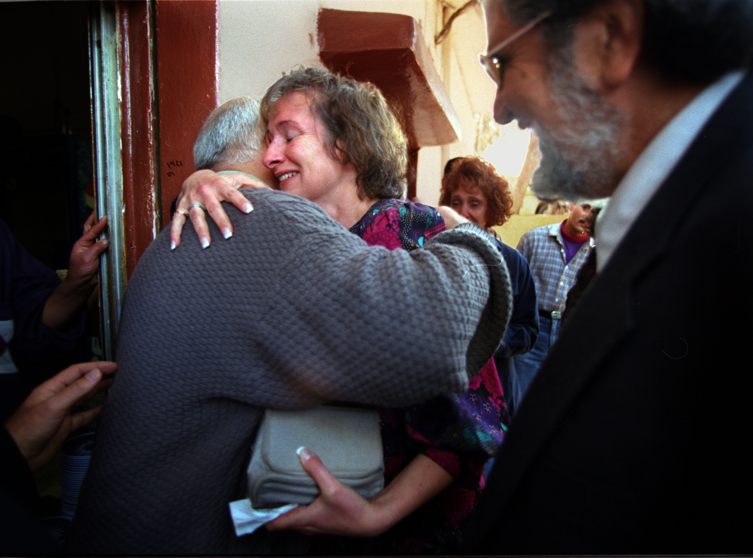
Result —
<path fill-rule="evenodd" d="M 261 136 L 259 103 L 251 97 L 230 99 L 206 117 L 194 143 L 194 165 L 201 170 L 252 160 Z"/>

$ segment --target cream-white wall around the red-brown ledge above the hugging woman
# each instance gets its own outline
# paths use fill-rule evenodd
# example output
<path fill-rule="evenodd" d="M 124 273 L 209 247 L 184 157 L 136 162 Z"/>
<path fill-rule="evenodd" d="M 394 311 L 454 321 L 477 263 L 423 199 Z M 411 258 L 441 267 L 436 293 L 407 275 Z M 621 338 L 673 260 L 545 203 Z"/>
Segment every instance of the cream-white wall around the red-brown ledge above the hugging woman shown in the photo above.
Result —
<path fill-rule="evenodd" d="M 477 61 L 477 53 L 486 47 L 480 8 L 456 18 L 449 37 L 435 47 L 434 35 L 442 24 L 438 0 L 221 0 L 219 101 L 242 95 L 259 98 L 283 72 L 298 65 L 321 68 L 316 42 L 320 8 L 406 14 L 419 21 L 462 123 L 461 141 L 419 151 L 416 194 L 425 203 L 436 203 L 447 159 L 474 154 L 474 113 L 491 114 L 494 86 Z"/>

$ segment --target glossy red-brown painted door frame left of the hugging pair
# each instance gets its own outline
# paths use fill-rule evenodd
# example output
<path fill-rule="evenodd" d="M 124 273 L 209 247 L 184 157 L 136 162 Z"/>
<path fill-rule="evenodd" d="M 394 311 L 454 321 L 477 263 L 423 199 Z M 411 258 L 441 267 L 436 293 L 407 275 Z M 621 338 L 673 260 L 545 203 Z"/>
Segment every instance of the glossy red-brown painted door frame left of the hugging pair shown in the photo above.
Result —
<path fill-rule="evenodd" d="M 217 0 L 117 2 L 127 276 L 169 223 L 217 106 Z"/>

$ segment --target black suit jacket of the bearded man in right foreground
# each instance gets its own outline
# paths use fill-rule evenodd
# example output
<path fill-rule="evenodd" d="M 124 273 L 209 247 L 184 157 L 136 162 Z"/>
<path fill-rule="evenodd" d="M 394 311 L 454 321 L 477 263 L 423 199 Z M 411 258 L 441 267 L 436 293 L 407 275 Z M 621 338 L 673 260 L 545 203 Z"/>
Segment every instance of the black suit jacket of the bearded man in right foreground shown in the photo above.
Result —
<path fill-rule="evenodd" d="M 468 552 L 750 555 L 751 349 L 748 75 L 562 327 Z"/>

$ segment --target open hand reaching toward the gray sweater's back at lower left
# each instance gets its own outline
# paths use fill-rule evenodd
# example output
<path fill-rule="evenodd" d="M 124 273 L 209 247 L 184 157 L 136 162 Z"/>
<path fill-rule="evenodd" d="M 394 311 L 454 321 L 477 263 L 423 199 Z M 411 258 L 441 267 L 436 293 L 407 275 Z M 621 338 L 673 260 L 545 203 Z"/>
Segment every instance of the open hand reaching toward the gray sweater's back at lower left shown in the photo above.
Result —
<path fill-rule="evenodd" d="M 5 429 L 32 471 L 44 466 L 75 429 L 99 416 L 102 407 L 74 413 L 74 408 L 112 383 L 114 362 L 73 364 L 47 380 L 21 404 Z"/>

